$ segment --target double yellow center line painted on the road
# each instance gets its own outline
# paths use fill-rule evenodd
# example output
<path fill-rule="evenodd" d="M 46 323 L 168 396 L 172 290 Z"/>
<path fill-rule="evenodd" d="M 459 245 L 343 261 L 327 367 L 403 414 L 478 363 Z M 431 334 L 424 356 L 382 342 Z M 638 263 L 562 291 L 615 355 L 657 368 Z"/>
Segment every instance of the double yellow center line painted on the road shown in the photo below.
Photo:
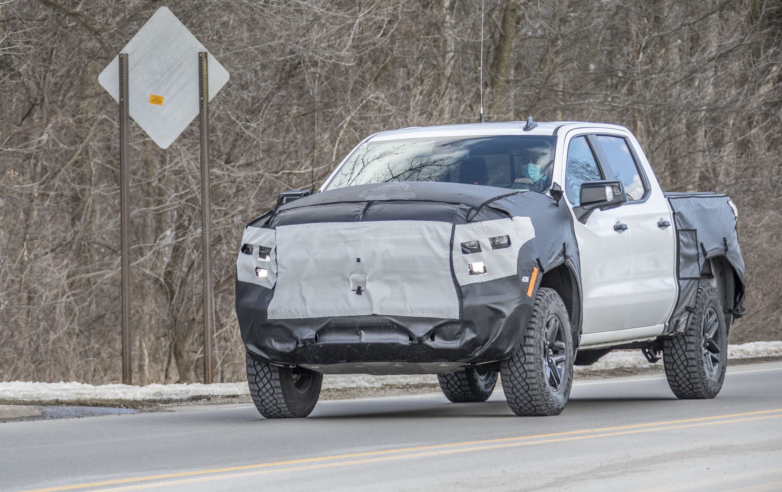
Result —
<path fill-rule="evenodd" d="M 671 420 L 671 421 L 665 421 L 665 422 L 649 422 L 644 424 L 633 424 L 630 426 L 615 426 L 615 427 L 602 427 L 598 429 L 583 429 L 583 430 L 574 430 L 574 431 L 565 431 L 561 433 L 546 433 L 546 434 L 536 434 L 532 436 L 516 436 L 516 437 L 501 437 L 497 439 L 487 439 L 487 440 L 473 440 L 473 441 L 465 441 L 461 443 L 450 443 L 450 444 L 432 444 L 428 446 L 417 446 L 417 447 L 400 447 L 396 449 L 389 449 L 389 450 L 381 450 L 381 451 L 365 451 L 361 453 L 349 453 L 349 454 L 333 454 L 331 456 L 318 456 L 314 458 L 299 458 L 299 459 L 292 459 L 292 460 L 285 460 L 285 461 L 271 461 L 267 463 L 258 463 L 254 465 L 240 465 L 240 466 L 230 466 L 226 468 L 217 468 L 217 469 L 204 469 L 204 470 L 196 470 L 192 472 L 176 472 L 176 473 L 166 473 L 161 475 L 151 475 L 151 476 L 138 476 L 134 478 L 127 478 L 127 479 L 113 479 L 113 480 L 103 480 L 100 482 L 91 482 L 91 483 L 78 483 L 74 485 L 66 485 L 62 487 L 47 487 L 42 489 L 34 489 L 34 490 L 24 490 L 23 492 L 56 492 L 58 490 L 74 490 L 74 489 L 81 489 L 81 488 L 87 488 L 87 487 L 101 487 L 106 485 L 119 485 L 122 483 L 133 483 L 133 482 L 142 482 L 147 480 L 157 480 L 157 479 L 170 479 L 170 478 L 179 478 L 183 476 L 195 476 L 195 475 L 206 475 L 206 474 L 215 474 L 215 473 L 225 473 L 225 472 L 236 472 L 240 470 L 247 470 L 247 469 L 259 469 L 259 468 L 270 468 L 274 466 L 283 466 L 283 465 L 298 465 L 301 463 L 312 463 L 317 461 L 332 461 L 332 460 L 339 460 L 339 459 L 346 459 L 346 458 L 360 458 L 364 456 L 376 456 L 376 455 L 382 455 L 382 454 L 393 454 L 393 453 L 409 453 L 411 451 L 423 451 L 423 450 L 433 450 L 433 449 L 442 449 L 445 447 L 465 447 L 465 446 L 475 446 L 476 444 L 490 444 L 490 443 L 506 443 L 506 444 L 496 444 L 493 446 L 482 446 L 482 447 L 469 447 L 469 448 L 461 448 L 456 450 L 443 450 L 443 451 L 432 451 L 429 453 L 418 453 L 418 454 L 404 454 L 402 456 L 385 456 L 382 458 L 371 458 L 368 460 L 352 460 L 352 461 L 340 461 L 338 463 L 327 463 L 327 464 L 321 464 L 321 465 L 307 465 L 307 466 L 300 466 L 300 467 L 289 467 L 285 469 L 276 469 L 276 470 L 261 470 L 256 472 L 248 472 L 248 473 L 235 473 L 231 474 L 230 476 L 253 476 L 253 475 L 260 475 L 264 473 L 275 473 L 275 472 L 285 472 L 290 470 L 296 470 L 296 469 L 316 469 L 316 468 L 328 468 L 330 466 L 343 466 L 343 465 L 359 465 L 361 463 L 371 463 L 375 461 L 389 461 L 394 459 L 406 459 L 406 458 L 415 458 L 415 457 L 423 457 L 423 456 L 433 456 L 436 454 L 450 454 L 450 453 L 461 453 L 466 451 L 479 451 L 482 449 L 497 449 L 500 447 L 516 447 L 516 446 L 525 446 L 529 444 L 542 444 L 542 443 L 552 443 L 552 442 L 562 442 L 565 440 L 581 440 L 581 439 L 590 439 L 593 437 L 605 437 L 605 436 L 621 436 L 625 434 L 633 434 L 633 433 L 644 433 L 644 432 L 651 432 L 655 430 L 665 430 L 665 429 L 684 429 L 687 427 L 697 427 L 697 426 L 708 426 L 708 425 L 714 425 L 719 423 L 729 423 L 729 422 L 746 422 L 749 420 L 760 420 L 763 418 L 776 418 L 776 417 L 782 417 L 782 414 L 780 415 L 766 415 L 763 417 L 755 417 L 755 418 L 742 418 L 742 419 L 734 419 L 734 420 L 728 420 L 728 421 L 719 421 L 719 422 L 708 422 L 712 420 L 717 419 L 724 419 L 724 418 L 735 418 L 735 417 L 744 417 L 748 415 L 763 415 L 763 414 L 771 414 L 771 413 L 777 413 L 782 411 L 782 408 L 775 408 L 773 410 L 762 410 L 762 411 L 748 411 L 744 413 L 737 413 L 737 414 L 728 414 L 728 415 L 715 415 L 712 417 L 700 417 L 700 418 L 684 418 L 680 420 Z M 701 422 L 696 424 L 689 424 L 689 425 L 683 425 L 683 426 L 676 426 L 674 424 L 687 424 L 687 422 Z M 659 427 L 659 426 L 665 426 L 665 427 Z M 644 429 L 648 427 L 655 427 L 655 429 Z M 605 433 L 605 431 L 615 431 L 615 430 L 622 430 L 622 429 L 635 429 L 635 430 L 624 430 L 623 432 L 615 432 L 615 433 Z M 589 436 L 579 436 L 579 434 L 592 434 L 592 433 L 601 433 L 601 434 L 593 434 Z M 571 436 L 571 437 L 565 437 L 560 439 L 546 439 L 546 440 L 536 440 L 536 441 L 527 441 L 523 443 L 512 443 L 508 441 L 515 441 L 515 440 L 532 440 L 532 439 L 540 439 L 540 438 L 547 438 L 547 437 L 557 437 L 557 436 Z M 188 480 L 177 480 L 167 483 L 152 483 L 152 484 L 145 484 L 145 485 L 139 485 L 139 486 L 133 486 L 133 487 L 119 487 L 119 488 L 112 488 L 110 490 L 136 490 L 138 488 L 146 488 L 146 487 L 159 487 L 164 484 L 174 484 L 174 483 L 193 483 L 193 480 L 200 481 L 200 480 L 206 480 L 206 479 L 220 479 L 223 477 L 199 477 L 198 479 L 188 479 Z M 96 491 L 98 492 L 98 491 Z"/>

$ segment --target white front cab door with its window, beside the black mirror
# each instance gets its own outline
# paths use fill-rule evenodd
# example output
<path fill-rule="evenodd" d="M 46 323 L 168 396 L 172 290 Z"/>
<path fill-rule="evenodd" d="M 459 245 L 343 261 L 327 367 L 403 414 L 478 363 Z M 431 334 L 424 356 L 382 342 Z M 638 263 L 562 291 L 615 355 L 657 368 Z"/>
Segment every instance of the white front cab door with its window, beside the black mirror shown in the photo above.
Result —
<path fill-rule="evenodd" d="M 583 131 L 565 141 L 565 195 L 579 206 L 584 181 L 611 179 L 597 159 L 594 134 Z M 585 223 L 573 221 L 581 259 L 583 333 L 608 332 L 633 326 L 633 246 L 626 225 L 628 209 L 594 210 Z"/>

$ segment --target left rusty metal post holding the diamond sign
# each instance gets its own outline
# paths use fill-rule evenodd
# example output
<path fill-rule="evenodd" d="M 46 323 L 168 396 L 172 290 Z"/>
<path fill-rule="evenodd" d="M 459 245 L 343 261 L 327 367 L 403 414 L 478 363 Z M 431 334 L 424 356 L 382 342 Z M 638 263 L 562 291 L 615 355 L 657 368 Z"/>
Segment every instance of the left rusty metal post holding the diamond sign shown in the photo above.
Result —
<path fill-rule="evenodd" d="M 127 119 L 127 53 L 120 53 L 120 249 L 122 251 L 122 382 L 133 384 L 131 363 L 131 255 L 128 242 L 127 149 L 130 123 Z"/>

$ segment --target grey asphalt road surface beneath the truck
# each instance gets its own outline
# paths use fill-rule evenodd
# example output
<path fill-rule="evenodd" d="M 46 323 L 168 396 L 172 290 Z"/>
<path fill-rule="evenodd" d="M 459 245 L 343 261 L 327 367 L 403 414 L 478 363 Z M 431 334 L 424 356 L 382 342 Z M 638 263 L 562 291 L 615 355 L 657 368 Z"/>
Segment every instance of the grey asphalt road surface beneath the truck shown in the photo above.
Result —
<path fill-rule="evenodd" d="M 576 382 L 558 417 L 515 417 L 500 391 L 8 422 L 0 490 L 782 490 L 782 364 L 730 368 L 714 400 Z"/>

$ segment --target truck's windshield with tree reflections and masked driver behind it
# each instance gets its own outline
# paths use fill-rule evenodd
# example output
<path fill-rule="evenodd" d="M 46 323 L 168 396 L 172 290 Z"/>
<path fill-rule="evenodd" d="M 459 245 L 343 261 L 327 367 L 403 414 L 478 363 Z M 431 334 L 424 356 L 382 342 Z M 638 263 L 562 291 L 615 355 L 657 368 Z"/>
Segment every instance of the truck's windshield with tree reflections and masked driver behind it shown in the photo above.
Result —
<path fill-rule="evenodd" d="M 441 181 L 545 192 L 557 138 L 408 138 L 359 146 L 325 189 L 390 181 Z"/>

